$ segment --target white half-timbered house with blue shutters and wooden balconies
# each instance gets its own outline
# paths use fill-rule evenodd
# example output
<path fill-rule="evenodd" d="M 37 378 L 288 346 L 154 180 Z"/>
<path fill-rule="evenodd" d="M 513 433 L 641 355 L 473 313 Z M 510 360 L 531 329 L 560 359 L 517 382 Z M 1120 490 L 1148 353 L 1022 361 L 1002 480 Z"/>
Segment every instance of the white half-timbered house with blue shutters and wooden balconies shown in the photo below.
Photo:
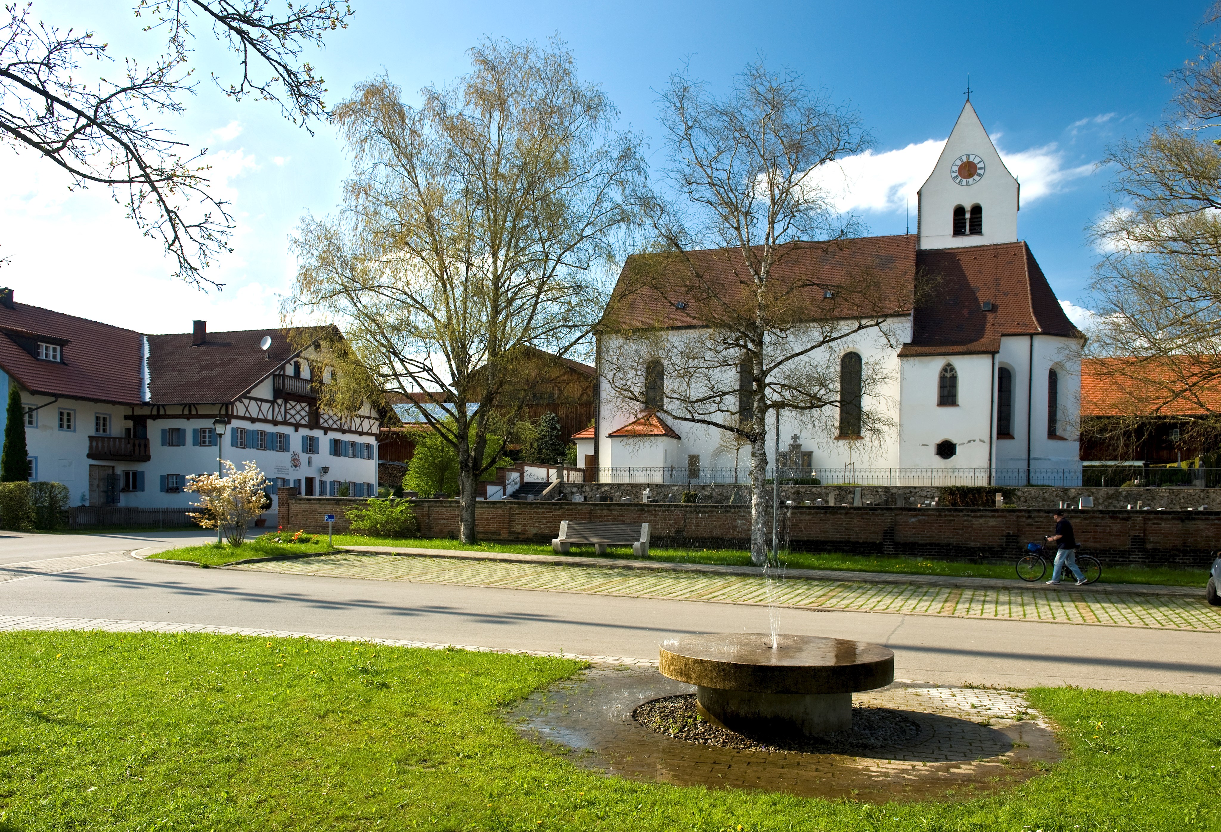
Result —
<path fill-rule="evenodd" d="M 21 392 L 29 478 L 73 505 L 186 509 L 187 475 L 219 456 L 304 495 L 375 495 L 377 415 L 319 409 L 313 355 L 283 329 L 145 335 L 0 289 L 0 393 Z"/>

